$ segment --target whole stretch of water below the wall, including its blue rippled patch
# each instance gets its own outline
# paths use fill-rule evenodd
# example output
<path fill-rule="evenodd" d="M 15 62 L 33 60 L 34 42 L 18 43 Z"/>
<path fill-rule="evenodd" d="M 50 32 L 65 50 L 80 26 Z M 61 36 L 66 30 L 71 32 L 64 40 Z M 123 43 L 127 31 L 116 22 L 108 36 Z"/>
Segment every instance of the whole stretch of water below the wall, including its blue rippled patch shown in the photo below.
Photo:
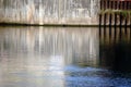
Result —
<path fill-rule="evenodd" d="M 130 87 L 130 35 L 106 33 L 1 26 L 0 87 Z"/>

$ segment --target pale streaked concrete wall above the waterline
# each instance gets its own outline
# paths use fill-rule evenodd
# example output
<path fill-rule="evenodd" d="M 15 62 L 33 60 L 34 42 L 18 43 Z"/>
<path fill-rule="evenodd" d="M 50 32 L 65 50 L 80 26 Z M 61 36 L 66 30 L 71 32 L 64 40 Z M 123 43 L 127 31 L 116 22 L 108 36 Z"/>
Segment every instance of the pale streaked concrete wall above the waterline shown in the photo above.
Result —
<path fill-rule="evenodd" d="M 0 22 L 97 24 L 99 0 L 0 0 Z"/>

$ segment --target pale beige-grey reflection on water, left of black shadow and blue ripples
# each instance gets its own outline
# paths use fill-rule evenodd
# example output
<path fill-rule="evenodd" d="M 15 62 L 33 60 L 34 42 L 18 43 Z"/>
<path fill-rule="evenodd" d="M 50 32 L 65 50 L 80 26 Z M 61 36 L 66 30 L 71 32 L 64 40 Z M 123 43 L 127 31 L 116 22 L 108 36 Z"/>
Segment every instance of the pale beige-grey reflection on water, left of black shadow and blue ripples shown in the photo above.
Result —
<path fill-rule="evenodd" d="M 97 33 L 81 27 L 0 27 L 0 87 L 66 87 L 67 65 L 97 65 Z"/>

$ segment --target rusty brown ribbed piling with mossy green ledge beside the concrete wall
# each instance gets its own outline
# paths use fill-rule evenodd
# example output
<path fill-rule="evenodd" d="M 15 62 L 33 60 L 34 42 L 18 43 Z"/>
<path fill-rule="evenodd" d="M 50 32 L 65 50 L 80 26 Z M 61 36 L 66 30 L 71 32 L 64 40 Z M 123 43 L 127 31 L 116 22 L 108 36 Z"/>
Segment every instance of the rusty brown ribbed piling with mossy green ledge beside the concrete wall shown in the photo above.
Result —
<path fill-rule="evenodd" d="M 131 1 L 117 1 L 117 0 L 102 0 L 100 1 L 102 15 L 104 21 L 100 21 L 105 25 L 130 26 L 131 18 Z M 105 16 L 106 15 L 106 16 Z M 115 21 L 114 21 L 115 16 Z M 127 21 L 128 18 L 128 21 Z"/>

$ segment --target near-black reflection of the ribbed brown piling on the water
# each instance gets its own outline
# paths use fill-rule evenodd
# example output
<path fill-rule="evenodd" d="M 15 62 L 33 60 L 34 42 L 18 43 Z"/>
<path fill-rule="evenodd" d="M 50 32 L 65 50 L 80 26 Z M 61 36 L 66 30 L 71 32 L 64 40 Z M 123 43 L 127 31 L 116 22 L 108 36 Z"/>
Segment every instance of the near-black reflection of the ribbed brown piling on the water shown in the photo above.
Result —
<path fill-rule="evenodd" d="M 100 65 L 115 71 L 131 72 L 130 27 L 104 27 L 100 32 Z"/>

